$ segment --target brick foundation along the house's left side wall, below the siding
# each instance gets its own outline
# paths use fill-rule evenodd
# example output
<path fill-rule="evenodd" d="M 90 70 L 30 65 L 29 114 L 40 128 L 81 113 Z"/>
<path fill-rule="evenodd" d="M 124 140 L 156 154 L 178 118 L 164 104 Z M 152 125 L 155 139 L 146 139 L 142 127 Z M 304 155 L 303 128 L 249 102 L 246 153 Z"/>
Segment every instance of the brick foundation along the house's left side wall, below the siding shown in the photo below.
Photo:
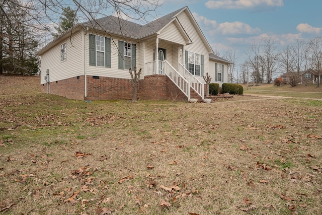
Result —
<path fill-rule="evenodd" d="M 41 92 L 47 93 L 47 84 L 41 85 Z M 49 93 L 68 99 L 84 100 L 84 76 L 49 83 Z"/>

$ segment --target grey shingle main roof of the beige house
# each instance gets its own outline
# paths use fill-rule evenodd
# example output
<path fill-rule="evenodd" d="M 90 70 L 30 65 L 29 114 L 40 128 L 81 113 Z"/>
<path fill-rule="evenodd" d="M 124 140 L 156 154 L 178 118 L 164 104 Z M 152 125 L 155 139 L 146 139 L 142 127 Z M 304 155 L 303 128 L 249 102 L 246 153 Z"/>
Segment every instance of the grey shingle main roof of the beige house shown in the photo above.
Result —
<path fill-rule="evenodd" d="M 107 31 L 109 33 L 123 35 L 133 39 L 140 39 L 162 29 L 184 8 L 147 23 L 146 25 L 136 24 L 114 16 L 107 16 L 82 24 L 91 28 Z"/>

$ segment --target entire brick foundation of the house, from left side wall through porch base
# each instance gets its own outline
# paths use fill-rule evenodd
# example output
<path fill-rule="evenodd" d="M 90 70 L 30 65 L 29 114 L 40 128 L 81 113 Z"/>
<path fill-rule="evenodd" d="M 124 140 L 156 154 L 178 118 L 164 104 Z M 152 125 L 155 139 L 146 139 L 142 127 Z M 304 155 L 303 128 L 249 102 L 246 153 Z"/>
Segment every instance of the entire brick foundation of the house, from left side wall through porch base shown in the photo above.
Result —
<path fill-rule="evenodd" d="M 132 80 L 87 76 L 87 97 L 84 97 L 84 76 L 49 83 L 49 93 L 76 100 L 131 100 Z M 41 86 L 47 93 L 47 85 Z M 188 102 L 187 97 L 164 75 L 146 76 L 139 81 L 138 99 Z"/>

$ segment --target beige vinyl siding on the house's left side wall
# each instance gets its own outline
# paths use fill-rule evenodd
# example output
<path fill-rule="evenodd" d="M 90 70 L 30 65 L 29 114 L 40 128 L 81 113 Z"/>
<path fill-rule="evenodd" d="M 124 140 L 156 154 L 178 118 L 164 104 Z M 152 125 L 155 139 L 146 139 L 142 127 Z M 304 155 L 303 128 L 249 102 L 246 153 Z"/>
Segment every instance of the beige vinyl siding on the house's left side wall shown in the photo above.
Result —
<path fill-rule="evenodd" d="M 60 45 L 66 43 L 66 60 L 60 60 Z M 69 79 L 84 75 L 84 48 L 82 32 L 76 33 L 71 39 L 57 43 L 49 51 L 41 55 L 41 84 L 45 84 L 44 77 L 49 69 L 49 81 Z"/>

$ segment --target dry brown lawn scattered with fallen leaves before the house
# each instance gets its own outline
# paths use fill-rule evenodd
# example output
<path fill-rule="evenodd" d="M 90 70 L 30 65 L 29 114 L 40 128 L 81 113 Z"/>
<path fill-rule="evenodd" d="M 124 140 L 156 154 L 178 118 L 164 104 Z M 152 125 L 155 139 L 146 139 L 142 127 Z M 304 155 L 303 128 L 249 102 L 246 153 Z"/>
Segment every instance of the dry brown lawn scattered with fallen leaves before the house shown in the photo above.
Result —
<path fill-rule="evenodd" d="M 320 101 L 0 92 L 2 213 L 322 213 Z"/>

